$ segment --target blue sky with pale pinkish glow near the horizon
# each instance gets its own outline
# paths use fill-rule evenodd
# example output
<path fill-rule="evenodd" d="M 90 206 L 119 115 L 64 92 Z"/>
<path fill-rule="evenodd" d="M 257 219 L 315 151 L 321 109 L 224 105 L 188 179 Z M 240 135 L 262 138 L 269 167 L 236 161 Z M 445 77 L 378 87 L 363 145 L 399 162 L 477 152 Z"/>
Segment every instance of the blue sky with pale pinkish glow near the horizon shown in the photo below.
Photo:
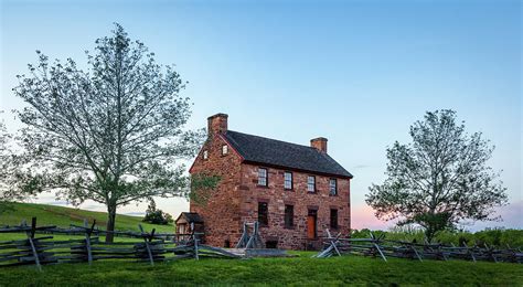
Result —
<path fill-rule="evenodd" d="M 11 88 L 35 50 L 84 64 L 83 51 L 119 22 L 190 82 L 190 127 L 222 111 L 238 131 L 303 145 L 327 137 L 355 176 L 354 226 L 383 226 L 364 194 L 384 179 L 385 148 L 407 141 L 426 110 L 451 108 L 497 146 L 490 164 L 511 202 L 504 222 L 469 228 L 523 227 L 521 15 L 520 1 L 3 0 L 0 109 L 23 106 Z"/>

